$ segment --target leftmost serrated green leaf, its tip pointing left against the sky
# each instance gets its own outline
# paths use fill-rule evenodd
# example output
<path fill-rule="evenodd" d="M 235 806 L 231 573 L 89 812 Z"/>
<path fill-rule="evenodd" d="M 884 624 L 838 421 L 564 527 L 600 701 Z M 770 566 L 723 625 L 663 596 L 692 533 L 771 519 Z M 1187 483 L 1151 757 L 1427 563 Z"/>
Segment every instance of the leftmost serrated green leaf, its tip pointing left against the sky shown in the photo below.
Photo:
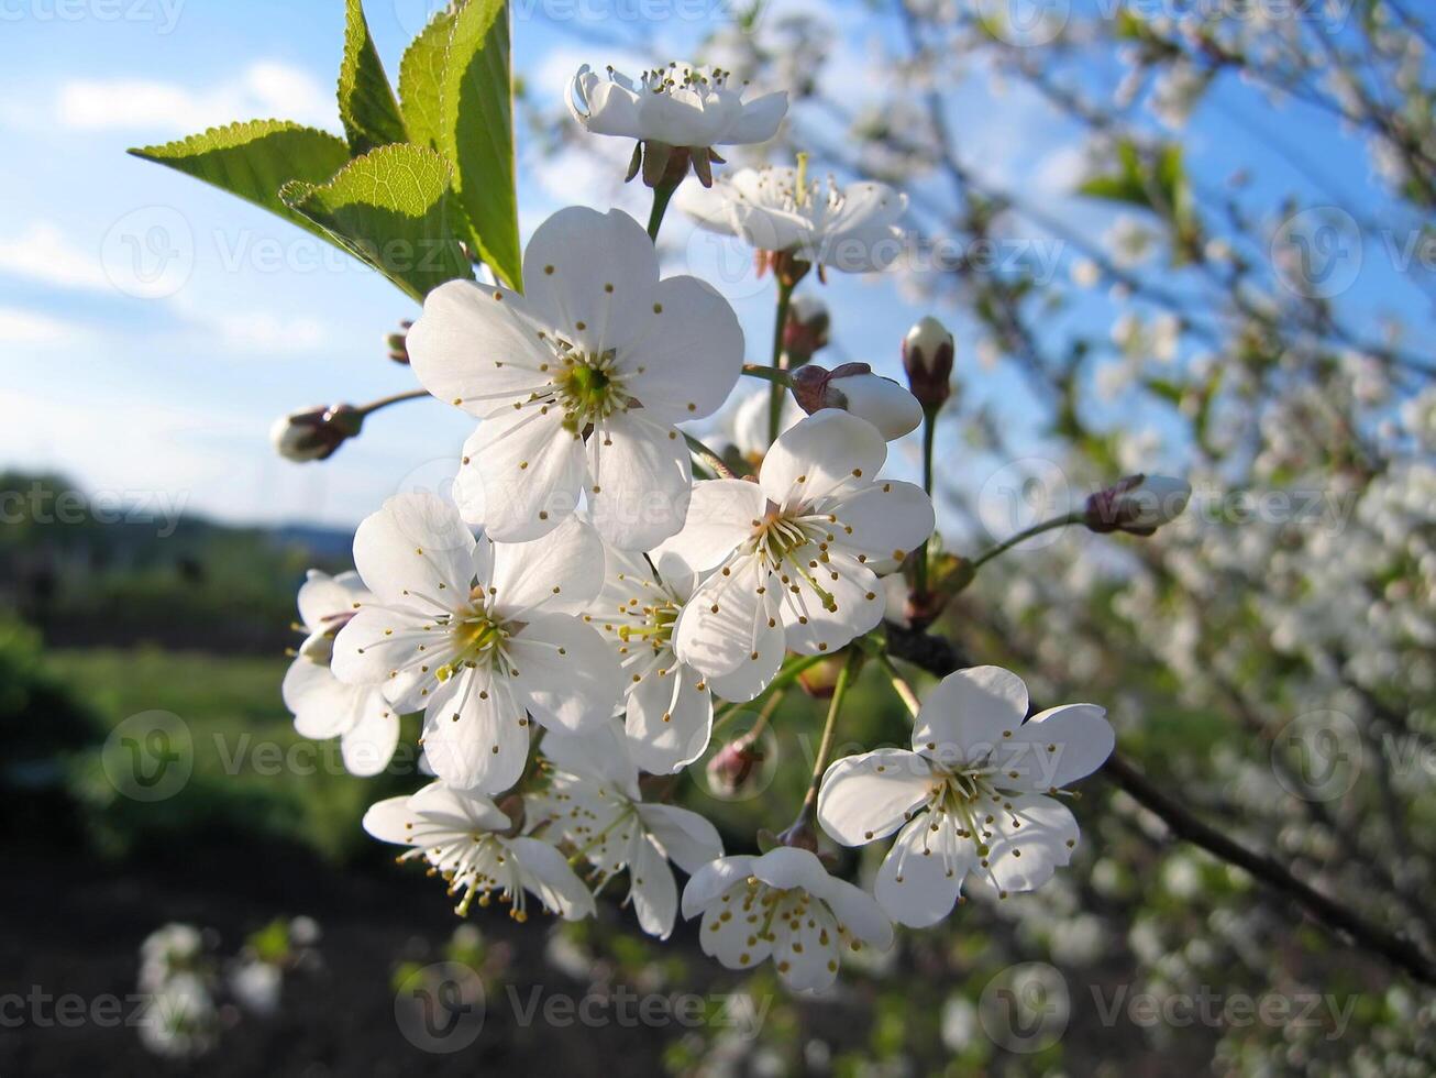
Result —
<path fill-rule="evenodd" d="M 279 188 L 290 180 L 322 184 L 349 160 L 342 138 L 280 119 L 210 128 L 202 135 L 129 152 L 237 194 L 317 236 L 323 231 L 290 210 Z"/>

